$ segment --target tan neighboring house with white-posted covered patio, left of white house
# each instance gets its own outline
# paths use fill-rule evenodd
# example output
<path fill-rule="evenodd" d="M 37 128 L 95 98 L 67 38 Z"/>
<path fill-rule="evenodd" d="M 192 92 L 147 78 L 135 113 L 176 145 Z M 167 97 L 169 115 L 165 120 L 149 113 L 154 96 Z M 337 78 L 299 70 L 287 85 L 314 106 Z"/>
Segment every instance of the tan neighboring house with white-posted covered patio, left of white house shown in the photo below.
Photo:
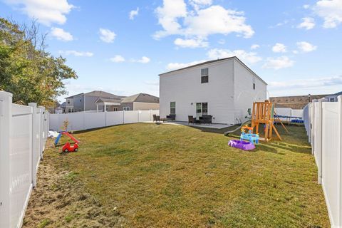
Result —
<path fill-rule="evenodd" d="M 138 93 L 125 98 L 98 98 L 96 110 L 159 110 L 159 98 L 147 93 Z"/>

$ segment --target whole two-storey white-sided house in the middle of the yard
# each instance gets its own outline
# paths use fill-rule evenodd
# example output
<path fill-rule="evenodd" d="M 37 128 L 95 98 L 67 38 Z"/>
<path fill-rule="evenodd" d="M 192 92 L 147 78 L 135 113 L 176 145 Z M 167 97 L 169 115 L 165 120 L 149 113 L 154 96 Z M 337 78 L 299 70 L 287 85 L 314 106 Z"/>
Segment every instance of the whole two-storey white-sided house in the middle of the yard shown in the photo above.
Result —
<path fill-rule="evenodd" d="M 237 57 L 160 74 L 160 117 L 187 121 L 212 115 L 212 123 L 240 123 L 254 101 L 266 100 L 267 84 Z"/>

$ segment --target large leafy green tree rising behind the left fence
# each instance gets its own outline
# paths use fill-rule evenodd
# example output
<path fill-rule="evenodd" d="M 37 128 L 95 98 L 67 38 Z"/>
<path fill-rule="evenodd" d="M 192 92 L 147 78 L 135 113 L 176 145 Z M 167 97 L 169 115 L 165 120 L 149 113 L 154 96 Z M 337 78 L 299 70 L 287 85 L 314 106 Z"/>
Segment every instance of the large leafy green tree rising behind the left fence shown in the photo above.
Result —
<path fill-rule="evenodd" d="M 0 18 L 0 90 L 13 93 L 14 102 L 53 106 L 66 94 L 65 80 L 76 79 L 66 59 L 45 51 L 38 26 L 19 26 Z"/>

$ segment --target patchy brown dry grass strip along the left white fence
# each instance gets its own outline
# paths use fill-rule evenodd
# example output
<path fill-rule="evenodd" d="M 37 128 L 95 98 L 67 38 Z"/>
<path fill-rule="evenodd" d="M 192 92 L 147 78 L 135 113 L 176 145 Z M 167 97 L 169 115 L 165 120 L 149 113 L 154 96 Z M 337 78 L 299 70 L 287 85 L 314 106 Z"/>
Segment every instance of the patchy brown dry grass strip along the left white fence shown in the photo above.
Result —
<path fill-rule="evenodd" d="M 23 227 L 113 227 L 120 214 L 104 212 L 62 156 L 68 155 L 60 155 L 49 140 Z"/>

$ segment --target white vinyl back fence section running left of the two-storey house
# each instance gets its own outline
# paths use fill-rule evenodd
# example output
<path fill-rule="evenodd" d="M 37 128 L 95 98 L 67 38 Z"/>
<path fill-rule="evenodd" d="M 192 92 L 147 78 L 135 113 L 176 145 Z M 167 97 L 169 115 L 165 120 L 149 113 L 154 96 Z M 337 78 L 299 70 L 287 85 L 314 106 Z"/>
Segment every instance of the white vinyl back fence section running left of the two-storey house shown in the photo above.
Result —
<path fill-rule="evenodd" d="M 125 123 L 139 123 L 153 120 L 159 110 L 131 110 L 100 113 L 50 114 L 50 130 L 61 131 L 63 122 L 68 120 L 68 130 L 87 130 Z"/>

